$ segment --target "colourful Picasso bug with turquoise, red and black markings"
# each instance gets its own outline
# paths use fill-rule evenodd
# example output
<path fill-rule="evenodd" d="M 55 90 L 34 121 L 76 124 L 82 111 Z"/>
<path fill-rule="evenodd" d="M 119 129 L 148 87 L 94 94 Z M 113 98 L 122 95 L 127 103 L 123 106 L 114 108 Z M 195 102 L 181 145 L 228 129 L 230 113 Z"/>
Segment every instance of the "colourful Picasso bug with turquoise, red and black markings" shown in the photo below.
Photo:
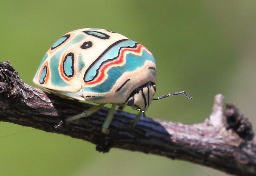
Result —
<path fill-rule="evenodd" d="M 54 129 L 112 104 L 102 125 L 105 134 L 116 105 L 139 111 L 131 123 L 133 128 L 140 116 L 146 116 L 152 100 L 179 94 L 192 98 L 184 91 L 153 98 L 156 80 L 155 59 L 146 47 L 98 28 L 78 29 L 62 36 L 47 51 L 33 79 L 51 93 L 99 104 L 62 120 Z"/>

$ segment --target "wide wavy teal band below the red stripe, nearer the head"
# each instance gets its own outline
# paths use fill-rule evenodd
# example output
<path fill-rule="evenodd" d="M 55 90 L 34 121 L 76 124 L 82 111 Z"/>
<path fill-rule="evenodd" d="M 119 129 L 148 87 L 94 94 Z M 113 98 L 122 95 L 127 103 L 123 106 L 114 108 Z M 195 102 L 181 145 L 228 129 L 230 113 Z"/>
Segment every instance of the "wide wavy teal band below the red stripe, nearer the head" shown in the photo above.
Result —
<path fill-rule="evenodd" d="M 123 66 L 112 67 L 108 72 L 108 78 L 101 84 L 95 87 L 84 87 L 83 91 L 95 92 L 95 93 L 104 93 L 110 91 L 114 86 L 117 79 L 122 76 L 125 72 L 132 72 L 136 68 L 144 65 L 146 60 L 150 60 L 155 63 L 155 59 L 152 54 L 148 53 L 146 50 L 143 50 L 142 56 L 134 55 L 129 53 L 126 55 L 126 63 Z"/>

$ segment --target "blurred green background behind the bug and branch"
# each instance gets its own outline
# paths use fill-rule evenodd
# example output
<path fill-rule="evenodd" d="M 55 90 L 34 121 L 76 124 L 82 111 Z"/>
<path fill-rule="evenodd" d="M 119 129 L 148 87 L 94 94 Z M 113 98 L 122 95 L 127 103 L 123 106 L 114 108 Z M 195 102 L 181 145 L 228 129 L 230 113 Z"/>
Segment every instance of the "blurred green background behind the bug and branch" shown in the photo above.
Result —
<path fill-rule="evenodd" d="M 153 102 L 148 117 L 202 122 L 211 112 L 214 95 L 222 93 L 255 125 L 255 19 L 253 0 L 0 0 L 0 61 L 9 60 L 34 86 L 42 57 L 63 34 L 84 27 L 112 30 L 154 54 L 156 96 L 179 90 L 193 96 Z M 120 149 L 98 153 L 86 141 L 0 122 L 1 176 L 103 174 L 225 175 L 156 155 Z"/>

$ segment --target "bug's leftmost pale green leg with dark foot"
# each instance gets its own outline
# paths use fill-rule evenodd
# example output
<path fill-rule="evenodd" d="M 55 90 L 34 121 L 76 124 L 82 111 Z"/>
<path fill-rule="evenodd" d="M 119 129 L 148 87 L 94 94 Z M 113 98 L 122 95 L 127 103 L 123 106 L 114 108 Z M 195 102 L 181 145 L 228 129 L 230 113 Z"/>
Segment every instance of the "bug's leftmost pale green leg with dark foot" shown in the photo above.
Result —
<path fill-rule="evenodd" d="M 63 125 L 64 123 L 67 123 L 67 122 L 71 122 L 73 120 L 77 120 L 77 119 L 80 119 L 82 117 L 87 117 L 87 116 L 90 116 L 90 114 L 93 114 L 95 113 L 96 111 L 100 110 L 102 107 L 104 107 L 105 104 L 99 104 L 99 105 L 96 105 L 92 108 L 89 108 L 85 111 L 83 111 L 81 114 L 77 114 L 75 116 L 71 116 L 71 117 L 68 117 L 66 118 L 65 120 L 61 120 L 60 123 L 56 126 L 54 126 L 53 128 L 53 132 L 55 132 L 61 125 Z"/>

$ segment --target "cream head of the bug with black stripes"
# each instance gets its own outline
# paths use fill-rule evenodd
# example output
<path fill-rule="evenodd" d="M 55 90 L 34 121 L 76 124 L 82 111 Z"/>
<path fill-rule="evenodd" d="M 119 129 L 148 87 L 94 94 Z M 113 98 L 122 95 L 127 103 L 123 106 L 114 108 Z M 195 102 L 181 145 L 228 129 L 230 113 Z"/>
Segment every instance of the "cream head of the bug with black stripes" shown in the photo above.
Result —
<path fill-rule="evenodd" d="M 148 109 L 156 89 L 155 84 L 151 82 L 138 87 L 131 93 L 127 100 L 127 105 L 134 110 L 142 112 L 145 117 L 145 111 Z"/>

